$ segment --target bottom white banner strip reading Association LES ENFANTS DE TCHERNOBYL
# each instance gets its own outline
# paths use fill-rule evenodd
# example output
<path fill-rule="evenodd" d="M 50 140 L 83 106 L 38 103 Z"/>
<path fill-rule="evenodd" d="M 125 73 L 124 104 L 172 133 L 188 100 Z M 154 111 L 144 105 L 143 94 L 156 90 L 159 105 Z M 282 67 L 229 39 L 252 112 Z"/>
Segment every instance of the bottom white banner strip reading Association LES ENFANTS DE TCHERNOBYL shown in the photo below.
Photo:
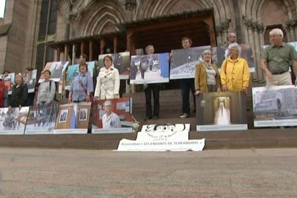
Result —
<path fill-rule="evenodd" d="M 205 146 L 205 139 L 176 140 L 176 141 L 134 141 L 122 139 L 118 151 L 201 151 Z"/>

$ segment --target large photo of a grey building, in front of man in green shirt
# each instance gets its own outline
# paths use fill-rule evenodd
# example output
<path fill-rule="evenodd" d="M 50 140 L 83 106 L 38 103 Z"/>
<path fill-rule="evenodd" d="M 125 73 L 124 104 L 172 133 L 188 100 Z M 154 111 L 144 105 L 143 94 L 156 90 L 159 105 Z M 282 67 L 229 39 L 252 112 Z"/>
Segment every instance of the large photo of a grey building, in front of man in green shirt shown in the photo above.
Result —
<path fill-rule="evenodd" d="M 297 126 L 297 88 L 252 88 L 254 127 Z"/>

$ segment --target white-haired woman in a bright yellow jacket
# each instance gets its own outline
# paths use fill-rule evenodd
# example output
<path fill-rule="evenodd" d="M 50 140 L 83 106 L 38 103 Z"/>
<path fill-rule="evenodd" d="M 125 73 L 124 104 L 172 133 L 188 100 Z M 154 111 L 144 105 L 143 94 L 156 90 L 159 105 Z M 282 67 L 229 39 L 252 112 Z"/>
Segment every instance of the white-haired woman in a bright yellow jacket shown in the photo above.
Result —
<path fill-rule="evenodd" d="M 239 57 L 240 47 L 237 43 L 230 44 L 229 57 L 221 67 L 221 83 L 223 92 L 243 92 L 247 94 L 249 85 L 249 68 L 247 61 Z"/>

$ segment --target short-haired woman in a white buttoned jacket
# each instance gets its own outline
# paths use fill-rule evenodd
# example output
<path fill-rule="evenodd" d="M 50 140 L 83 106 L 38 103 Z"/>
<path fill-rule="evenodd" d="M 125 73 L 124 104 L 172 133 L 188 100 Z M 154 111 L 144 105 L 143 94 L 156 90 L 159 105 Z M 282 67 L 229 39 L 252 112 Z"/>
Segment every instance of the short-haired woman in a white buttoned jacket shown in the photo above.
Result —
<path fill-rule="evenodd" d="M 95 89 L 95 99 L 118 99 L 120 89 L 119 71 L 113 67 L 112 58 L 106 55 L 103 58 L 104 67 L 99 71 Z"/>

